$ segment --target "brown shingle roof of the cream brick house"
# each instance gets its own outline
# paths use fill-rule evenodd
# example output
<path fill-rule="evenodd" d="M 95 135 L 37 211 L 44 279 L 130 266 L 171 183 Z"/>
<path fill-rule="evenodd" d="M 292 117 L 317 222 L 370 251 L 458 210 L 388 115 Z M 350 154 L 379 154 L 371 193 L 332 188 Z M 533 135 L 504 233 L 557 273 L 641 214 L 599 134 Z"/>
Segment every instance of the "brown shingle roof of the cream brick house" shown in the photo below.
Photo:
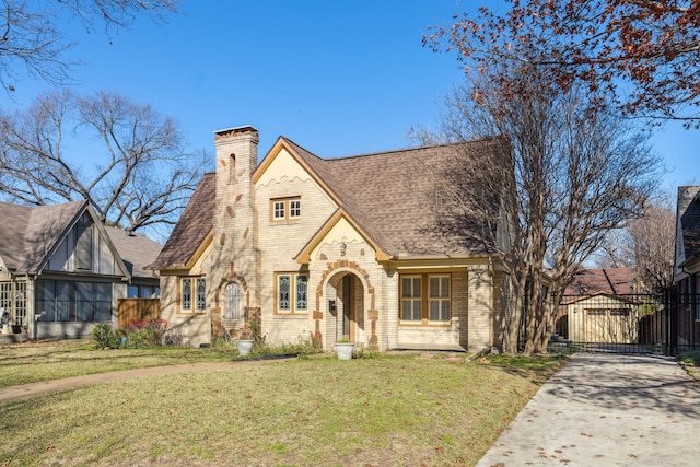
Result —
<path fill-rule="evenodd" d="M 482 242 L 445 237 L 434 229 L 431 201 L 435 177 L 456 150 L 497 151 L 493 139 L 322 159 L 280 137 L 340 200 L 343 208 L 392 256 L 488 254 Z M 152 268 L 184 267 L 213 227 L 214 174 L 207 174 Z"/>

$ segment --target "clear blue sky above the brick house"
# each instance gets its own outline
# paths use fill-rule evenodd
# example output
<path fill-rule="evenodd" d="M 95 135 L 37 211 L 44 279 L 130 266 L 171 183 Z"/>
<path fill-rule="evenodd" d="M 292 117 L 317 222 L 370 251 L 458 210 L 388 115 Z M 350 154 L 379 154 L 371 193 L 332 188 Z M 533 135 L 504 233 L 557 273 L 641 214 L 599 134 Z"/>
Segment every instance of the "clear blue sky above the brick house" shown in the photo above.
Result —
<path fill-rule="evenodd" d="M 80 93 L 116 91 L 178 120 L 194 149 L 213 152 L 213 131 L 253 125 L 262 156 L 283 135 L 322 157 L 411 144 L 407 129 L 435 126 L 439 103 L 462 80 L 455 55 L 421 46 L 463 0 L 184 1 L 167 24 L 140 19 L 109 37 L 68 31 Z M 48 85 L 24 80 L 22 107 Z M 652 140 L 672 172 L 663 183 L 700 183 L 700 131 L 667 125 Z M 88 154 L 85 157 L 88 160 Z"/>

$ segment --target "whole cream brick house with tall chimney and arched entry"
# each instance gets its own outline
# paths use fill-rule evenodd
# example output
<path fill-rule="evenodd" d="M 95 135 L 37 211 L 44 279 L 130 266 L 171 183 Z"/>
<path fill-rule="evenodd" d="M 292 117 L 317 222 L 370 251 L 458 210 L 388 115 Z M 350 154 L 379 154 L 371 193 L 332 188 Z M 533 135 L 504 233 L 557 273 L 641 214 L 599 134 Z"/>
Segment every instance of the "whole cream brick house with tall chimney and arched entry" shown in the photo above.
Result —
<path fill-rule="evenodd" d="M 258 165 L 257 144 L 253 127 L 215 132 L 217 171 L 151 266 L 184 341 L 235 337 L 255 316 L 271 345 L 500 345 L 498 261 L 434 232 L 429 195 L 456 145 L 324 160 L 280 137 Z"/>

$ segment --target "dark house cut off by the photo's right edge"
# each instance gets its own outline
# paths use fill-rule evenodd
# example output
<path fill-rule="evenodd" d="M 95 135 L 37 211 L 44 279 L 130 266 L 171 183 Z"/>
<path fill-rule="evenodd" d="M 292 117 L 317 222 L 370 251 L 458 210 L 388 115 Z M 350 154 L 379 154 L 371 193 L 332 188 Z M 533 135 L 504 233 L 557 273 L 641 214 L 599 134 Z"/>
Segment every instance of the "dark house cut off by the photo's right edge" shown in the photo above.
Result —
<path fill-rule="evenodd" d="M 678 346 L 700 345 L 700 186 L 678 187 L 676 259 Z"/>

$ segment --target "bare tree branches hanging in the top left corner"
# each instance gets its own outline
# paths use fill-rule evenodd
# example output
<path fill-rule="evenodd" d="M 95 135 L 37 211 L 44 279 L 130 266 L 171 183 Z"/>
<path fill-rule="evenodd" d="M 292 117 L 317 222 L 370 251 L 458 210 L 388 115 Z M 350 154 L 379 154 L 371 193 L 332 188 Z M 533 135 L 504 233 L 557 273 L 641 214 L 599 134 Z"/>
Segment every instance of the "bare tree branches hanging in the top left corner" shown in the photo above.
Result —
<path fill-rule="evenodd" d="M 75 19 L 88 32 L 102 25 L 110 31 L 129 27 L 138 15 L 163 21 L 177 12 L 177 0 L 2 0 L 0 2 L 0 84 L 14 89 L 20 69 L 51 83 L 68 79 L 75 65 L 65 52 L 74 43 L 62 32 Z"/>

